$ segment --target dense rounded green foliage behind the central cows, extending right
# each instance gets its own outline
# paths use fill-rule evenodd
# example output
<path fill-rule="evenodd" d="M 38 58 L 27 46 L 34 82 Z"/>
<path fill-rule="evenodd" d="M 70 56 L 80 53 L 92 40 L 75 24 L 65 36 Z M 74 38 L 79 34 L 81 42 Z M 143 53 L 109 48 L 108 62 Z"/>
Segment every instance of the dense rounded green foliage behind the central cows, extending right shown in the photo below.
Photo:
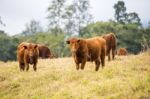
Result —
<path fill-rule="evenodd" d="M 142 45 L 150 44 L 150 32 L 141 31 L 137 24 L 121 24 L 114 21 L 95 22 L 84 27 L 81 32 L 83 37 L 102 36 L 114 32 L 117 38 L 117 47 L 125 47 L 129 53 L 137 54 L 141 51 Z M 150 29 L 149 29 L 150 30 Z M 145 35 L 145 36 L 144 36 Z M 142 38 L 144 37 L 144 39 Z M 144 44 L 144 45 L 145 45 Z"/>

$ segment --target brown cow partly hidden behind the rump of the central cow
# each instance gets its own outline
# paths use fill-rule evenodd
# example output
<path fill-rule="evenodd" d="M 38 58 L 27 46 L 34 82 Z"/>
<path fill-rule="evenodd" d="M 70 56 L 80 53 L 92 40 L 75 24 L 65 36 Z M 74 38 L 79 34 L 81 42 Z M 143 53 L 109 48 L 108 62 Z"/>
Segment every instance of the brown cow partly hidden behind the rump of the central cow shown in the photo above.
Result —
<path fill-rule="evenodd" d="M 114 33 L 109 33 L 109 34 L 106 34 L 102 37 L 106 40 L 107 55 L 108 55 L 108 60 L 110 61 L 110 51 L 112 51 L 112 59 L 115 58 L 116 36 Z"/>

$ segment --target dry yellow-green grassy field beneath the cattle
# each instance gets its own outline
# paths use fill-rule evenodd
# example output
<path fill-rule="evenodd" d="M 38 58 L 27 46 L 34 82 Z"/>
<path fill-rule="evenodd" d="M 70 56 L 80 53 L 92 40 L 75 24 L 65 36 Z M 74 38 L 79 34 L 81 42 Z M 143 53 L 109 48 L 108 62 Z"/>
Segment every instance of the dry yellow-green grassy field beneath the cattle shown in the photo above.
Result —
<path fill-rule="evenodd" d="M 117 56 L 95 72 L 77 71 L 72 58 L 39 60 L 37 72 L 0 62 L 0 99 L 150 99 L 150 52 Z"/>

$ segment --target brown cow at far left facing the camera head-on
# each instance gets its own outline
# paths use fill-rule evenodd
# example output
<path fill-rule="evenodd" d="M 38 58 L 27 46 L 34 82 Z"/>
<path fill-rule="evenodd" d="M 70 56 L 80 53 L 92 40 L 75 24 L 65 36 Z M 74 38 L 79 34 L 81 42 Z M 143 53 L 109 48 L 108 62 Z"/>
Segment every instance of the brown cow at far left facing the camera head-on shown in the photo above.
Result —
<path fill-rule="evenodd" d="M 39 56 L 39 51 L 38 51 L 37 44 L 22 42 L 21 44 L 18 45 L 17 58 L 19 61 L 19 67 L 21 71 L 22 70 L 24 71 L 25 68 L 26 71 L 28 71 L 29 64 L 31 65 L 33 64 L 33 69 L 34 71 L 36 71 L 38 56 Z"/>

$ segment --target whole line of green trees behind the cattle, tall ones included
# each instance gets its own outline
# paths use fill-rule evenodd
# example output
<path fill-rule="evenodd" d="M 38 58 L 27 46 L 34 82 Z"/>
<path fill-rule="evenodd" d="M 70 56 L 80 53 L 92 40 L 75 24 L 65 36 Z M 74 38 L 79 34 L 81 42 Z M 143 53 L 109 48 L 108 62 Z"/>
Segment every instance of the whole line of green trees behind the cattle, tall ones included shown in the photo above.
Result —
<path fill-rule="evenodd" d="M 0 31 L 0 60 L 16 60 L 17 45 L 22 41 L 47 45 L 58 57 L 70 56 L 65 41 L 71 36 L 90 38 L 114 32 L 117 47 L 137 54 L 150 47 L 150 24 L 144 28 L 136 12 L 127 12 L 123 1 L 114 4 L 114 18 L 107 22 L 92 20 L 89 0 L 52 0 L 47 8 L 49 25 L 44 30 L 40 22 L 31 20 L 22 33 L 9 36 Z M 2 21 L 1 21 L 2 23 Z M 0 23 L 0 25 L 2 25 Z"/>

